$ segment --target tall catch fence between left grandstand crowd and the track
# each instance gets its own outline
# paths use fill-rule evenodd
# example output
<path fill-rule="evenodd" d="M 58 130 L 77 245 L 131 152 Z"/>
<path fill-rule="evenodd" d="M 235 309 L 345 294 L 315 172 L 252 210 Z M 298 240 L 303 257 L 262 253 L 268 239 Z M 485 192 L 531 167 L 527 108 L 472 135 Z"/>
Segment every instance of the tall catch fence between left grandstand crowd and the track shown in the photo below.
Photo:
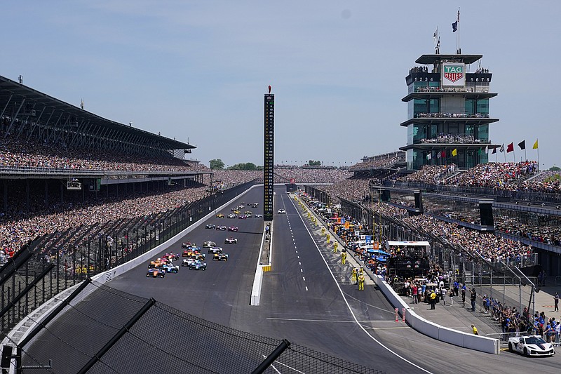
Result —
<path fill-rule="evenodd" d="M 254 184 L 248 182 L 170 211 L 72 227 L 27 243 L 0 268 L 0 335 L 4 338 L 62 290 L 147 253 Z"/>

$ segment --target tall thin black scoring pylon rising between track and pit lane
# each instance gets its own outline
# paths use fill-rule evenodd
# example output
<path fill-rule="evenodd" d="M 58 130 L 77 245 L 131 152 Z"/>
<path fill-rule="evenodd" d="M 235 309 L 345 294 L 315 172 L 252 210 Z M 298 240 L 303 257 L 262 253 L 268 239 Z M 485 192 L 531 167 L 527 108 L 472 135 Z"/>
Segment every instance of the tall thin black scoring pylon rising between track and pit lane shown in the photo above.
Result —
<path fill-rule="evenodd" d="M 265 131 L 263 154 L 263 219 L 273 220 L 273 150 L 275 127 L 275 95 L 265 95 Z"/>

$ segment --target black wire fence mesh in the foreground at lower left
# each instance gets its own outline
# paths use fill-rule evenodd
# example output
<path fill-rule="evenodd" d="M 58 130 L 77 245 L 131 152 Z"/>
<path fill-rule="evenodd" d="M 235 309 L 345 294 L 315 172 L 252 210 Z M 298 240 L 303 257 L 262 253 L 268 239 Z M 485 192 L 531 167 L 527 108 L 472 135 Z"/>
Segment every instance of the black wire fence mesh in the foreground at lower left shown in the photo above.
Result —
<path fill-rule="evenodd" d="M 282 341 L 217 325 L 157 300 L 90 283 L 22 347 L 22 364 L 52 360 L 52 368 L 34 369 L 34 373 L 78 373 L 147 305 L 147 312 L 109 346 L 88 373 L 251 373 Z M 382 373 L 294 343 L 264 373 L 278 370 Z"/>

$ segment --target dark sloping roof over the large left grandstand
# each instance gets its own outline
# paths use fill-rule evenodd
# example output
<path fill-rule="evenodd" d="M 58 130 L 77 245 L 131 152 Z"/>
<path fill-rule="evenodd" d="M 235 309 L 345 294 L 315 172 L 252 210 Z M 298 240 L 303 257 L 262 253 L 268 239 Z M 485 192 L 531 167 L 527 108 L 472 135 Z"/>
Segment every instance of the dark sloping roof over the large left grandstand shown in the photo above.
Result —
<path fill-rule="evenodd" d="M 196 146 L 189 145 L 189 143 L 165 138 L 164 136 L 149 133 L 148 131 L 140 130 L 139 128 L 133 128 L 132 126 L 127 126 L 123 123 L 104 119 L 101 116 L 97 116 L 97 114 L 90 113 L 67 102 L 63 102 L 62 100 L 46 95 L 45 93 L 36 91 L 33 88 L 24 86 L 16 81 L 12 81 L 4 76 L 0 76 L 0 110 L 4 110 L 9 101 L 19 101 L 20 99 L 25 99 L 26 101 L 29 100 L 29 102 L 34 104 L 34 109 L 39 108 L 39 111 L 42 110 L 43 107 L 50 107 L 52 109 L 58 109 L 61 112 L 65 112 L 68 116 L 73 118 L 75 117 L 77 120 L 86 121 L 91 125 L 91 127 L 88 128 L 88 133 L 95 134 L 100 130 L 100 128 L 109 128 L 110 130 L 114 130 L 119 133 L 141 136 L 149 142 L 154 142 L 155 145 L 161 149 L 196 148 Z M 37 104 L 39 104 L 39 107 L 37 107 Z M 0 112 L 0 114 L 2 113 Z"/>

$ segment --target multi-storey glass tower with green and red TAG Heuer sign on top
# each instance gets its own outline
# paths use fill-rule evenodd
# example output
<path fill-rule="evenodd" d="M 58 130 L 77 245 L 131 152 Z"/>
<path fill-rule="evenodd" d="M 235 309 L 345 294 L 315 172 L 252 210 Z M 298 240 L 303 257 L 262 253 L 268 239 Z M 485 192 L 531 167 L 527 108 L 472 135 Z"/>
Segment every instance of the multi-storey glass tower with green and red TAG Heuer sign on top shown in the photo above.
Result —
<path fill-rule="evenodd" d="M 407 170 L 455 163 L 472 168 L 487 163 L 489 70 L 471 68 L 482 55 L 421 55 L 405 77 L 407 96 Z M 473 70 L 473 72 L 471 72 Z M 489 152 L 490 153 L 490 152 Z"/>

